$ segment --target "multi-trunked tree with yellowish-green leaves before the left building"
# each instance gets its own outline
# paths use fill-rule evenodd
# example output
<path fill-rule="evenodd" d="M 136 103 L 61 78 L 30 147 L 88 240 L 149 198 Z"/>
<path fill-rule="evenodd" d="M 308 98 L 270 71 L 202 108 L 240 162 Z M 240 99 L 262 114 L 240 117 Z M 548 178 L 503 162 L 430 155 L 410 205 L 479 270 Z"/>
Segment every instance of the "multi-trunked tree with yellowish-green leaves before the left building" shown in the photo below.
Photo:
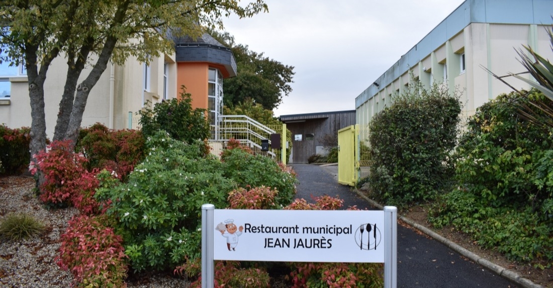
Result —
<path fill-rule="evenodd" d="M 235 0 L 6 0 L 0 11 L 0 52 L 7 55 L 0 61 L 27 68 L 34 155 L 45 148 L 44 82 L 56 57 L 66 58 L 67 77 L 54 140 L 76 143 L 88 94 L 109 61 L 121 64 L 134 56 L 148 62 L 173 51 L 165 35 L 200 36 L 205 26 L 222 28 L 222 17 L 251 17 L 267 5 L 263 0 L 246 6 Z M 85 66 L 92 69 L 77 84 Z"/>

